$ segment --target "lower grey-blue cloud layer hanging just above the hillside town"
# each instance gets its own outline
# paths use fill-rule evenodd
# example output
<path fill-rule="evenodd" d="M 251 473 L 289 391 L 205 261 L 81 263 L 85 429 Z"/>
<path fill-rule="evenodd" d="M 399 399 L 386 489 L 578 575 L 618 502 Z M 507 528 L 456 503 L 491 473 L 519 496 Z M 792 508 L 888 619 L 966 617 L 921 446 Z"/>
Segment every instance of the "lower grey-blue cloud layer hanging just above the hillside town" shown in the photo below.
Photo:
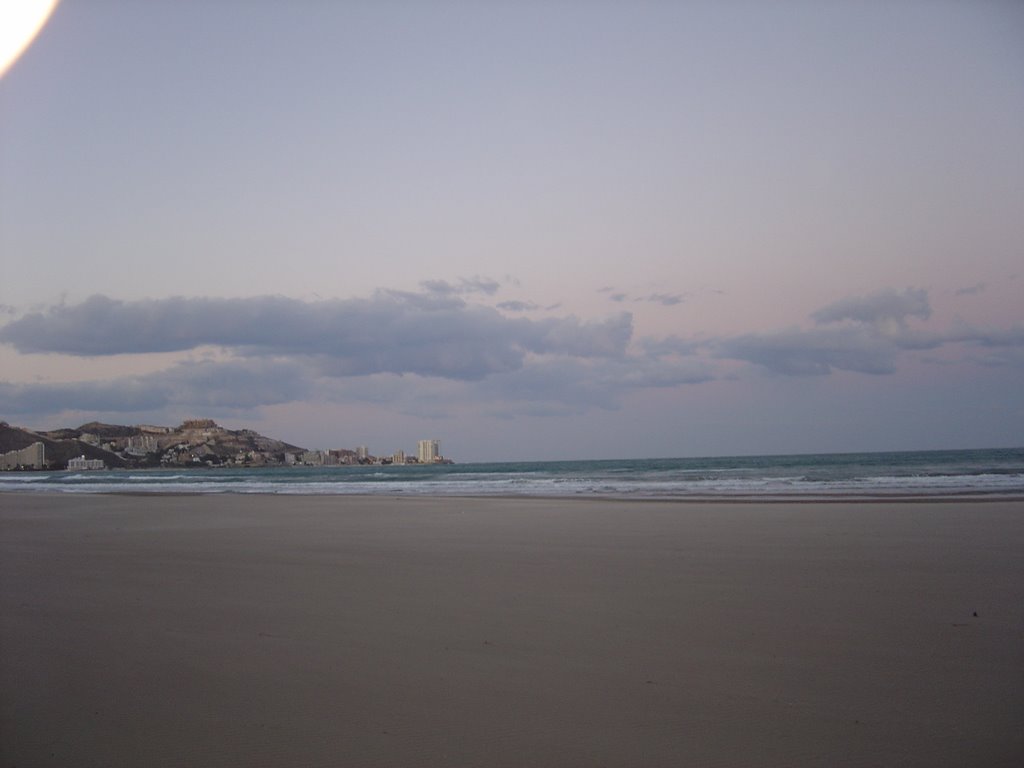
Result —
<path fill-rule="evenodd" d="M 425 411 L 456 413 L 467 404 L 495 415 L 539 413 L 539 409 L 564 415 L 595 408 L 611 411 L 633 391 L 712 378 L 700 361 L 644 357 L 549 356 L 481 381 L 382 373 L 342 376 L 331 369 L 330 360 L 257 358 L 185 361 L 101 382 L 0 382 L 0 406 L 9 414 L 167 413 L 175 409 L 223 414 L 306 400 L 388 403 L 398 412 L 420 416 Z"/>

